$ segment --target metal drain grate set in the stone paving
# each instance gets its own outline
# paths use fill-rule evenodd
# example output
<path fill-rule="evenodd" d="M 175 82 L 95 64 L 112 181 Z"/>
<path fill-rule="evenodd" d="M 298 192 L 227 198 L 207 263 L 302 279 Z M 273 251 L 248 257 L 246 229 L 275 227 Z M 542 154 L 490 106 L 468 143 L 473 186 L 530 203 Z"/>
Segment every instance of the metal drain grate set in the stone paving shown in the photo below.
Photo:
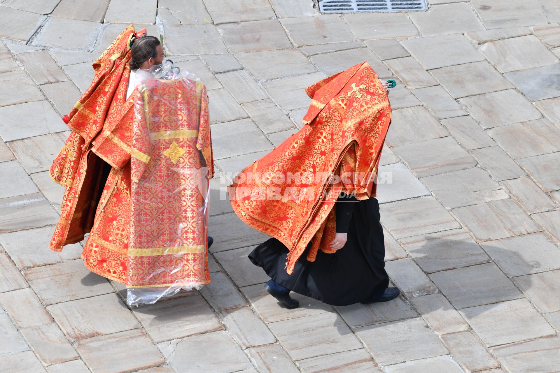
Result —
<path fill-rule="evenodd" d="M 426 0 L 323 0 L 321 13 L 414 12 L 425 11 Z"/>

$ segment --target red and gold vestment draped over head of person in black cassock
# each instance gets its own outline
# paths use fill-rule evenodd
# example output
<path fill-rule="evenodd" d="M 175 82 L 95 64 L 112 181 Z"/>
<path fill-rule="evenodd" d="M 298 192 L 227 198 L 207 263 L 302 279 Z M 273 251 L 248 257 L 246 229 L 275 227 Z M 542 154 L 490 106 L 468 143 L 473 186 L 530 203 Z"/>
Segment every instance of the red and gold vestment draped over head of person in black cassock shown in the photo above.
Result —
<path fill-rule="evenodd" d="M 312 99 L 305 126 L 246 167 L 230 186 L 235 213 L 290 250 L 286 270 L 312 247 L 333 253 L 334 203 L 340 191 L 374 197 L 374 178 L 391 121 L 391 106 L 366 62 L 306 88 Z"/>

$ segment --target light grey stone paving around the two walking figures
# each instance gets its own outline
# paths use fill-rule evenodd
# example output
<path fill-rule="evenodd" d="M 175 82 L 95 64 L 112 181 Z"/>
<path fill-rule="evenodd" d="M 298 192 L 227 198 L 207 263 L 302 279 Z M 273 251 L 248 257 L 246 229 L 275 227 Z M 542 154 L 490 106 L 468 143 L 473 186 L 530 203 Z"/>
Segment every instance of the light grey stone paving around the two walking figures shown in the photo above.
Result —
<path fill-rule="evenodd" d="M 310 0 L 0 2 L 0 370 L 558 371 L 558 0 L 365 15 Z M 47 249 L 62 188 L 46 171 L 68 135 L 60 116 L 129 22 L 207 85 L 220 171 L 212 284 L 132 310 L 80 244 Z M 364 60 L 398 78 L 379 200 L 403 295 L 335 308 L 296 296 L 286 310 L 246 258 L 265 237 L 220 187 L 298 129 L 305 86 Z"/>

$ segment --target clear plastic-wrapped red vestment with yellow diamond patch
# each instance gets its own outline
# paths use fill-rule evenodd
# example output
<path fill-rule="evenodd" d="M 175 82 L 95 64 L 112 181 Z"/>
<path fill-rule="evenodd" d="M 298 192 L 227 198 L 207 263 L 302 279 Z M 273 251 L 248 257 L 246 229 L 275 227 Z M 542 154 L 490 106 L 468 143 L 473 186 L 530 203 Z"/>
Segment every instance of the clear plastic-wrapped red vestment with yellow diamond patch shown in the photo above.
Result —
<path fill-rule="evenodd" d="M 127 304 L 200 289 L 213 176 L 206 88 L 172 63 L 137 70 L 130 160 Z"/>

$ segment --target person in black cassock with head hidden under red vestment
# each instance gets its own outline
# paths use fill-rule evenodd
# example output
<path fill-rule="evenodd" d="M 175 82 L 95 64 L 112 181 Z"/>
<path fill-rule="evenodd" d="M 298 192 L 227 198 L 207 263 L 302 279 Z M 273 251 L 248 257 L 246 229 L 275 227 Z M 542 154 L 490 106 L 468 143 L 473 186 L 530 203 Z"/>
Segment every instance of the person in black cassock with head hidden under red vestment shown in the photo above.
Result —
<path fill-rule="evenodd" d="M 237 175 L 235 213 L 272 238 L 249 254 L 267 291 L 332 305 L 390 300 L 375 175 L 391 121 L 385 85 L 367 63 L 306 88 L 298 133 Z"/>

